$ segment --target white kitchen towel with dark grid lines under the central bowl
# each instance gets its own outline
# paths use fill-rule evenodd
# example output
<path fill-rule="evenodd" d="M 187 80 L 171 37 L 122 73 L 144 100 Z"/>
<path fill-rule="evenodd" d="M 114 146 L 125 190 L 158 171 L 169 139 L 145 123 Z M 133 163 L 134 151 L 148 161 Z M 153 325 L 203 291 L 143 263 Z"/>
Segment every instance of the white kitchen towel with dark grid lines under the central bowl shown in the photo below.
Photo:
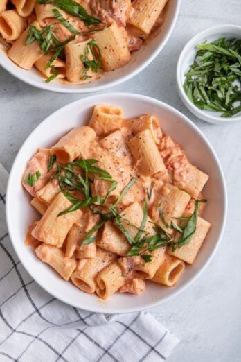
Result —
<path fill-rule="evenodd" d="M 150 313 L 106 316 L 82 311 L 33 281 L 8 236 L 7 180 L 0 164 L 0 361 L 165 360 L 179 340 Z"/>

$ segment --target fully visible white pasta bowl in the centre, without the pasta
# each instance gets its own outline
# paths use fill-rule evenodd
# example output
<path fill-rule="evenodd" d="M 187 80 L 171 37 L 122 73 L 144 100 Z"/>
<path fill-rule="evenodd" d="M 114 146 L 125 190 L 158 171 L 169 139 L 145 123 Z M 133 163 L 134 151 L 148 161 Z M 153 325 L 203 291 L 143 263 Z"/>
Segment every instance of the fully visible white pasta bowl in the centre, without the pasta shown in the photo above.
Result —
<path fill-rule="evenodd" d="M 163 131 L 184 146 L 193 164 L 210 175 L 204 188 L 204 197 L 208 199 L 204 218 L 212 224 L 211 230 L 195 263 L 193 266 L 186 267 L 175 287 L 148 283 L 145 293 L 138 297 L 116 293 L 109 300 L 103 301 L 96 295 L 83 293 L 71 282 L 65 282 L 47 264 L 37 259 L 32 248 L 24 246 L 28 225 L 39 218 L 37 212 L 35 213 L 29 204 L 30 197 L 21 187 L 21 176 L 26 163 L 37 148 L 49 148 L 71 128 L 86 124 L 93 106 L 99 103 L 118 105 L 123 109 L 124 116 L 127 118 L 146 113 L 156 114 L 161 121 Z M 156 99 L 137 94 L 114 93 L 98 94 L 75 101 L 51 114 L 35 128 L 21 146 L 12 165 L 6 196 L 6 216 L 10 239 L 21 263 L 33 279 L 48 293 L 67 304 L 89 311 L 130 313 L 160 304 L 177 295 L 197 278 L 213 257 L 222 238 L 226 221 L 226 204 L 226 185 L 220 162 L 202 132 L 188 118 L 170 105 Z"/>

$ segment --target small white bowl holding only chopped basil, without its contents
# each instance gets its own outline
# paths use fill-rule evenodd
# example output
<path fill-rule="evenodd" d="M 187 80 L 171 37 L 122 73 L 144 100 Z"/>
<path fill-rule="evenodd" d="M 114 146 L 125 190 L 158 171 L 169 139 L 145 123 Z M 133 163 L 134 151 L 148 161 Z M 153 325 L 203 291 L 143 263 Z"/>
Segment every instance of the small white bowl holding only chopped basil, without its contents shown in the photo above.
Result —
<path fill-rule="evenodd" d="M 212 28 L 208 28 L 205 31 L 195 35 L 187 44 L 184 46 L 184 49 L 181 51 L 179 55 L 179 60 L 177 62 L 177 89 L 179 92 L 179 96 L 181 101 L 184 102 L 188 110 L 192 112 L 195 116 L 203 119 L 204 121 L 221 124 L 231 121 L 241 121 L 241 112 L 235 114 L 235 116 L 226 118 L 220 117 L 222 112 L 212 112 L 208 110 L 199 110 L 188 98 L 186 92 L 184 91 L 184 80 L 185 74 L 189 70 L 191 64 L 193 64 L 195 55 L 197 53 L 197 49 L 195 46 L 202 42 L 213 42 L 220 37 L 226 38 L 241 38 L 241 26 L 238 25 L 219 25 L 213 26 Z"/>

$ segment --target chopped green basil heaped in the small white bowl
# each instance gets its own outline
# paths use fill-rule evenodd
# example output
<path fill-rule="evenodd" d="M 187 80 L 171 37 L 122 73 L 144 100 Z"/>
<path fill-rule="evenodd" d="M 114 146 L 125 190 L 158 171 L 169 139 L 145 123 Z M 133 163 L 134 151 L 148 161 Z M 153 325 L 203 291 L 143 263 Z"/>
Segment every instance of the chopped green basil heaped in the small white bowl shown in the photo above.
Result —
<path fill-rule="evenodd" d="M 196 49 L 184 82 L 190 101 L 201 110 L 222 112 L 220 117 L 241 112 L 240 40 L 220 38 Z"/>

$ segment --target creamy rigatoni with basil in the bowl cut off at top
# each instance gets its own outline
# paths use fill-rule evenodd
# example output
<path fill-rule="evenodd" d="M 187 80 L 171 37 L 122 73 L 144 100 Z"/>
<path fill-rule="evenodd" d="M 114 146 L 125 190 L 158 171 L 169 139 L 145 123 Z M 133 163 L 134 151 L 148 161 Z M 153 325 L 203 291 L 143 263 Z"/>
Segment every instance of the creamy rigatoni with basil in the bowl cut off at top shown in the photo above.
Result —
<path fill-rule="evenodd" d="M 130 62 L 167 1 L 0 0 L 0 34 L 19 67 L 83 85 Z"/>

